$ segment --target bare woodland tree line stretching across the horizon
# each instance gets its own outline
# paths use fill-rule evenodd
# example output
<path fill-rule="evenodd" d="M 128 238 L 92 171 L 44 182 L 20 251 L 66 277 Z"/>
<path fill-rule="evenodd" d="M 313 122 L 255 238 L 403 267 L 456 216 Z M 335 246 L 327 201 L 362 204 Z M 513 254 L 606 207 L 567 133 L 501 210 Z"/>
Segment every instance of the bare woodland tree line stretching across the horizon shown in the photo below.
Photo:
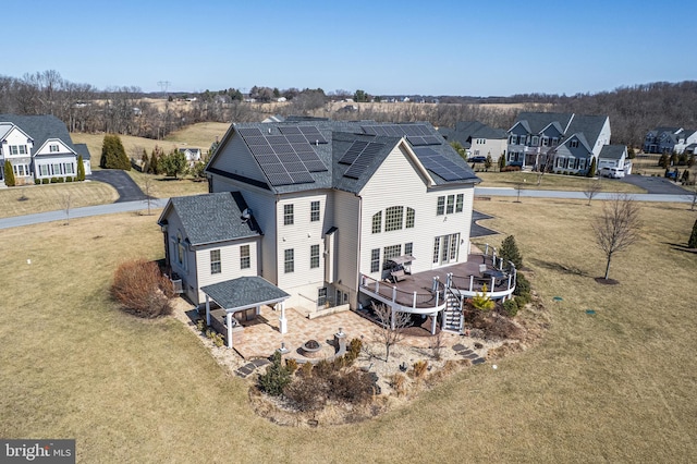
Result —
<path fill-rule="evenodd" d="M 245 96 L 237 88 L 205 90 L 186 95 L 179 105 L 172 95 L 152 95 L 139 87 L 123 86 L 98 89 L 89 84 L 64 80 L 57 71 L 24 76 L 0 76 L 0 112 L 15 114 L 53 114 L 71 132 L 105 132 L 161 139 L 184 125 L 215 122 L 261 121 L 278 112 L 281 115 L 311 115 L 335 120 L 371 119 L 379 122 L 428 121 L 436 126 L 454 126 L 457 121 L 478 120 L 508 130 L 519 111 L 555 111 L 579 114 L 607 114 L 612 142 L 640 147 L 646 133 L 657 126 L 697 129 L 697 82 L 651 83 L 619 87 L 597 94 L 548 95 L 521 94 L 511 97 L 426 97 L 437 105 L 404 103 L 389 107 L 362 105 L 359 112 L 334 112 L 331 100 L 353 98 L 357 102 L 380 101 L 365 90 L 355 93 L 321 88 L 254 86 Z M 195 97 L 195 98 L 193 98 Z M 246 98 L 246 101 L 245 101 Z M 286 103 L 269 108 L 266 102 L 284 98 Z M 490 107 L 482 103 L 516 103 Z"/>

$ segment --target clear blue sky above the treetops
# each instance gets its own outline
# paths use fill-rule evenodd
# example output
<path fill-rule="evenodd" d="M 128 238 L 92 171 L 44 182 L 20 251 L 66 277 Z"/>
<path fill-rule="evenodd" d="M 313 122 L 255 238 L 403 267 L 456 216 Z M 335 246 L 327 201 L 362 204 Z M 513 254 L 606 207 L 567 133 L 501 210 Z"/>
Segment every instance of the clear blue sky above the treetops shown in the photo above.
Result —
<path fill-rule="evenodd" d="M 694 0 L 28 0 L 2 15 L 0 75 L 98 88 L 509 96 L 697 80 Z"/>

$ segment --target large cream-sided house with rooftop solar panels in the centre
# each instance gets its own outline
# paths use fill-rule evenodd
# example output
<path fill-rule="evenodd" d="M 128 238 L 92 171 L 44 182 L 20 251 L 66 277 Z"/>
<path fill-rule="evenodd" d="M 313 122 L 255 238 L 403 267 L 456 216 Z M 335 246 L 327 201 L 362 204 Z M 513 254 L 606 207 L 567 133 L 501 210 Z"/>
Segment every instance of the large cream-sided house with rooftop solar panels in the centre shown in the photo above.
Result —
<path fill-rule="evenodd" d="M 395 261 L 412 273 L 467 261 L 479 179 L 428 123 L 233 124 L 206 172 L 211 194 L 172 198 L 160 218 L 167 262 L 196 304 L 212 297 L 208 282 L 256 274 L 293 307 L 355 309 L 371 301 L 362 282 L 389 278 Z M 242 217 L 249 230 L 229 231 Z M 219 232 L 191 236 L 209 227 Z M 250 268 L 239 266 L 240 246 Z"/>

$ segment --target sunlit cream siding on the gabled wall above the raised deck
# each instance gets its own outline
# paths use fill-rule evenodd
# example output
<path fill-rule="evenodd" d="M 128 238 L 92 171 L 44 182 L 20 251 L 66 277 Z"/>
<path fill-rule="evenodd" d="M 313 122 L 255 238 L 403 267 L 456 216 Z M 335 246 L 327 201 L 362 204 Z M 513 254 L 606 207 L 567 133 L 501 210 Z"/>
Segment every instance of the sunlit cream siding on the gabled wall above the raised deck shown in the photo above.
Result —
<path fill-rule="evenodd" d="M 394 175 L 395 172 L 400 174 Z M 437 216 L 438 197 L 457 194 L 464 195 L 463 211 Z M 428 188 L 411 158 L 401 148 L 394 149 L 360 192 L 363 217 L 359 271 L 376 279 L 381 278 L 381 272 L 370 273 L 370 251 L 380 248 L 382 267 L 383 248 L 390 245 L 402 245 L 403 253 L 405 243 L 413 243 L 412 255 L 416 260 L 412 265 L 412 272 L 430 270 L 438 266 L 433 265 L 431 259 L 433 239 L 454 233 L 460 233 L 461 239 L 457 262 L 466 261 L 473 195 L 474 188 L 470 185 Z M 405 217 L 406 207 L 414 208 L 415 227 L 384 232 L 386 209 L 391 206 L 405 207 Z M 378 211 L 382 211 L 382 231 L 374 234 L 372 216 Z M 343 247 L 343 244 L 340 246 Z"/>

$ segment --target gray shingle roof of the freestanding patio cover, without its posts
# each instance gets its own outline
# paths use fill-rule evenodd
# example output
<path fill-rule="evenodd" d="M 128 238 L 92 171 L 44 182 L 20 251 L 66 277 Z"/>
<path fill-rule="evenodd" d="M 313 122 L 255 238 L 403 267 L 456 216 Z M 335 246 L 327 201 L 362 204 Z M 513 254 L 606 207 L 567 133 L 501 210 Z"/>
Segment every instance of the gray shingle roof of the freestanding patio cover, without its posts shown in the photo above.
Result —
<path fill-rule="evenodd" d="M 241 277 L 212 285 L 201 286 L 224 309 L 244 309 L 260 303 L 283 301 L 291 295 L 261 277 Z"/>

